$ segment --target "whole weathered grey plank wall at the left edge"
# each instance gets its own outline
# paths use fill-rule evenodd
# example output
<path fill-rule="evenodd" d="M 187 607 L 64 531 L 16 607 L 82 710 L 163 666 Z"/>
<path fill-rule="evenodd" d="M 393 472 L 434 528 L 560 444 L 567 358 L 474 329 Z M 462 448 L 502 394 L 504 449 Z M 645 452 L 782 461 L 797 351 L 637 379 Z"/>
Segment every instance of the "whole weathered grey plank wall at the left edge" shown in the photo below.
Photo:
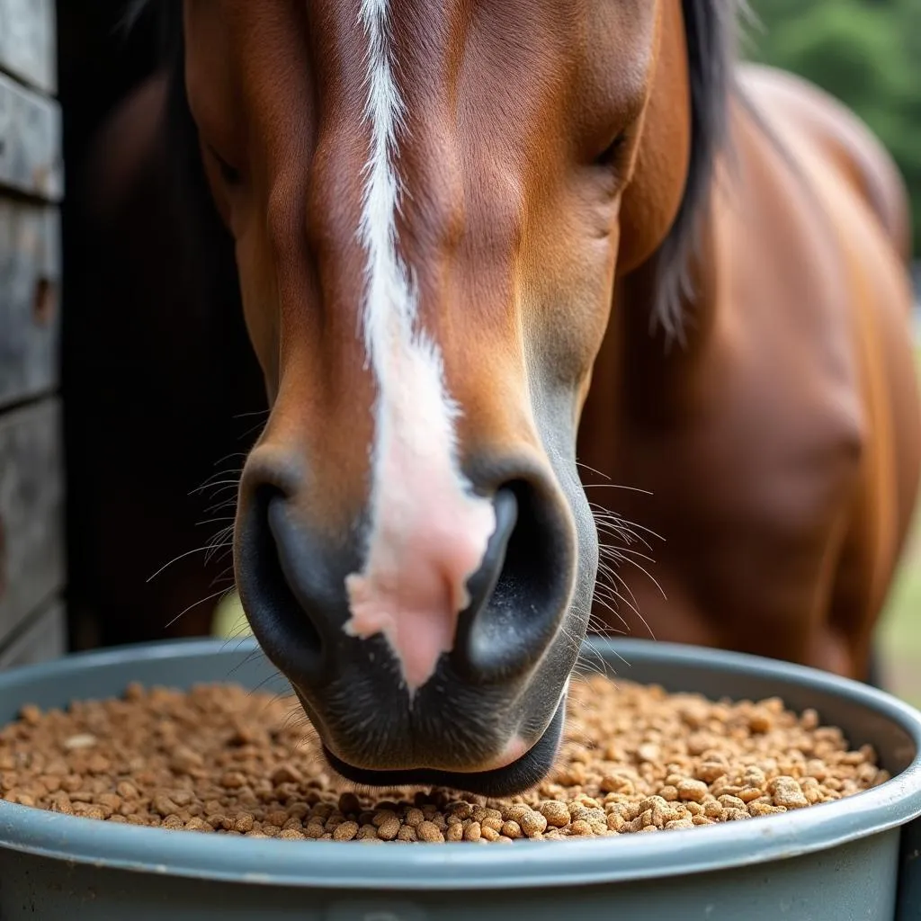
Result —
<path fill-rule="evenodd" d="M 53 0 L 0 0 L 0 668 L 65 648 Z"/>

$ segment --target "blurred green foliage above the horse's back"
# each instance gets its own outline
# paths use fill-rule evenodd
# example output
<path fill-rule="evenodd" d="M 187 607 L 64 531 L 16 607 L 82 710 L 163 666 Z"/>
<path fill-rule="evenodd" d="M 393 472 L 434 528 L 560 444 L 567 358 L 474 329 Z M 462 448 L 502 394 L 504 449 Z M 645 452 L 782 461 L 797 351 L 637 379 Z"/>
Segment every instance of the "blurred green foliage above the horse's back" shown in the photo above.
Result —
<path fill-rule="evenodd" d="M 921 0 L 749 0 L 750 60 L 792 70 L 867 122 L 902 170 L 921 258 Z"/>

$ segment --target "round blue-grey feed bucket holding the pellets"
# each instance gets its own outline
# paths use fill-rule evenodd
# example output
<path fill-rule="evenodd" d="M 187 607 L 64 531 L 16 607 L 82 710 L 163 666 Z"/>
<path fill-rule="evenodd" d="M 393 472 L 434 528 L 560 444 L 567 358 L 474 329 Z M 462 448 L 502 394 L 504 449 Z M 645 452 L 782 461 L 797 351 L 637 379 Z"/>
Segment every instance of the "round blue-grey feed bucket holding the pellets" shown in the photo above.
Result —
<path fill-rule="evenodd" d="M 904 921 L 921 918 L 921 714 L 857 682 L 767 659 L 596 641 L 636 682 L 709 697 L 780 695 L 869 742 L 892 780 L 850 799 L 663 834 L 515 845 L 367 847 L 113 825 L 0 802 L 0 921 Z M 90 653 L 0 674 L 0 724 L 20 705 L 275 674 L 252 641 Z M 623 657 L 623 659 L 622 659 Z M 624 664 L 624 660 L 629 665 Z"/>

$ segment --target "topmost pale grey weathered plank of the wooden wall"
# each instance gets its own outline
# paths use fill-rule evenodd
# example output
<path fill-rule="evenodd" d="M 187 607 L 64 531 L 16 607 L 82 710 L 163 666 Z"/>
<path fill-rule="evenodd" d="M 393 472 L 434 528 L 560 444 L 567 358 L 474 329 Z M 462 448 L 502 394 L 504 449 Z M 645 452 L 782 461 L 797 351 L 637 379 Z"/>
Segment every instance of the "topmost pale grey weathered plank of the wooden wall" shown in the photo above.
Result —
<path fill-rule="evenodd" d="M 57 91 L 54 0 L 0 0 L 0 68 Z"/>

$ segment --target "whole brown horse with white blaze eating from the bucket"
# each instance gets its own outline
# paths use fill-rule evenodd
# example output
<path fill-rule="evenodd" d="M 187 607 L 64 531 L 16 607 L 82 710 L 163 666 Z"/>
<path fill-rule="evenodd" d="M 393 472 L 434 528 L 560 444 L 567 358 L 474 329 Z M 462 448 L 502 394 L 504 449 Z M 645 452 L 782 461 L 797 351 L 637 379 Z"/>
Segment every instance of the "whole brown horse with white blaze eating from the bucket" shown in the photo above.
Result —
<path fill-rule="evenodd" d="M 529 787 L 599 581 L 604 630 L 866 676 L 921 415 L 854 114 L 733 0 L 157 7 L 271 407 L 237 587 L 333 770 Z"/>

